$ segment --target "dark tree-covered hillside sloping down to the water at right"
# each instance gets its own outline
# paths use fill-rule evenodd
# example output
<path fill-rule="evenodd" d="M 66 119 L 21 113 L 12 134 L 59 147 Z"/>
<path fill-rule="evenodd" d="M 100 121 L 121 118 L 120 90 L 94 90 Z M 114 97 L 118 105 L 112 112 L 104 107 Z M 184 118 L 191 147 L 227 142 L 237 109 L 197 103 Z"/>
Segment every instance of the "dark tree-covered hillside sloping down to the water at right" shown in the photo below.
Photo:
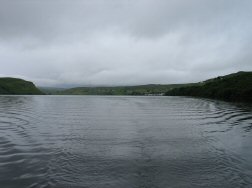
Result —
<path fill-rule="evenodd" d="M 252 102 L 252 72 L 237 72 L 209 79 L 195 86 L 174 88 L 169 96 L 195 96 L 226 101 Z"/>

